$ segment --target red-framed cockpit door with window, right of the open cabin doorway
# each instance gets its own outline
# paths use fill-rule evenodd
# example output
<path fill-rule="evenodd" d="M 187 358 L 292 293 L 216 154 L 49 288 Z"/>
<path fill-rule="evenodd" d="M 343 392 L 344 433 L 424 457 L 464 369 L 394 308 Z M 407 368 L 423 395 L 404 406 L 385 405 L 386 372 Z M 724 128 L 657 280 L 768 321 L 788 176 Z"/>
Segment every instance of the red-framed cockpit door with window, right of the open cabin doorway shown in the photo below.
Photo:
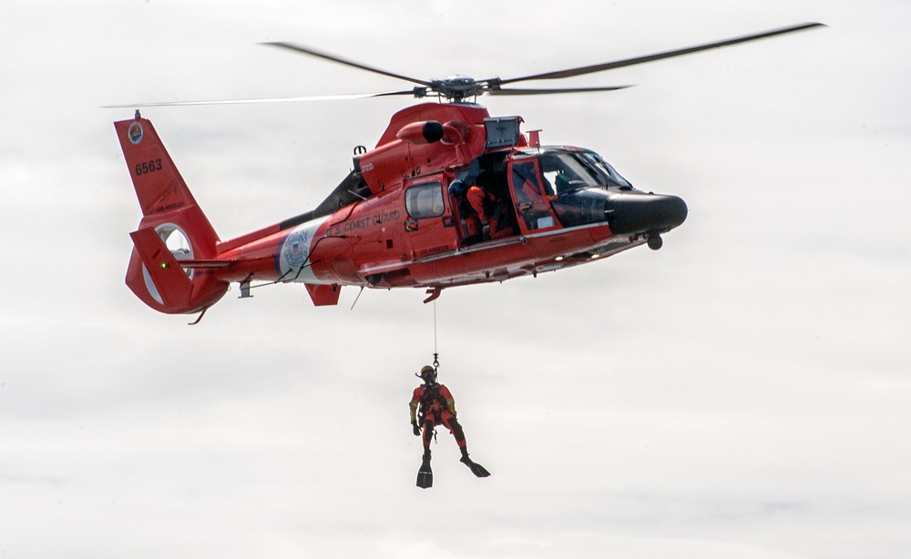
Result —
<path fill-rule="evenodd" d="M 509 161 L 509 188 L 516 200 L 516 214 L 522 234 L 559 229 L 559 221 L 550 207 L 553 187 L 541 178 L 537 158 Z"/>

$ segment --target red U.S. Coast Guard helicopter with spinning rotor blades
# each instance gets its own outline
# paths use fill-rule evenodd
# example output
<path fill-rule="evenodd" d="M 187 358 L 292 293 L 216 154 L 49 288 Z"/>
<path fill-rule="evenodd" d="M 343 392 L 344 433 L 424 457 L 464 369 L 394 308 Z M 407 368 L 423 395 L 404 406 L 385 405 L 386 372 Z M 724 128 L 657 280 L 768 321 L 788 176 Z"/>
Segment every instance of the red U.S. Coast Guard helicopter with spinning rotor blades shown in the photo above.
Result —
<path fill-rule="evenodd" d="M 445 288 L 567 269 L 640 245 L 660 249 L 680 226 L 682 198 L 634 188 L 584 147 L 546 146 L 518 116 L 492 117 L 477 97 L 611 91 L 625 86 L 528 89 L 512 84 L 581 76 L 816 27 L 804 23 L 648 56 L 509 79 L 425 80 L 292 43 L 267 43 L 410 82 L 398 91 L 342 98 L 437 97 L 396 112 L 373 149 L 312 210 L 221 240 L 193 198 L 151 121 L 115 122 L 142 219 L 130 233 L 126 283 L 153 310 L 196 313 L 229 290 L 303 283 L 316 306 L 338 304 L 343 286 Z M 248 103 L 183 101 L 112 107 Z M 326 97 L 319 97 L 326 98 Z M 255 283 L 255 284 L 254 284 Z M 196 322 L 193 322 L 194 324 Z"/>

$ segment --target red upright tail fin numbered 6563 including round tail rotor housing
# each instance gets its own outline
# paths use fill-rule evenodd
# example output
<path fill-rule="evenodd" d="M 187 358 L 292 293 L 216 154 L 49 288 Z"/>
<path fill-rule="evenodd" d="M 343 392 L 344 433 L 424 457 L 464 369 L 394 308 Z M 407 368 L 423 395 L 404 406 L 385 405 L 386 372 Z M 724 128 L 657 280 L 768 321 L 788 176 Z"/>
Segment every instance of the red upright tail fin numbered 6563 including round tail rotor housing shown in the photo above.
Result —
<path fill-rule="evenodd" d="M 227 292 L 228 283 L 200 270 L 184 272 L 175 264 L 182 259 L 214 259 L 218 234 L 196 204 L 152 123 L 137 113 L 133 120 L 115 122 L 114 127 L 142 208 L 138 230 L 130 234 L 134 248 L 127 286 L 161 312 L 187 313 L 210 307 Z"/>

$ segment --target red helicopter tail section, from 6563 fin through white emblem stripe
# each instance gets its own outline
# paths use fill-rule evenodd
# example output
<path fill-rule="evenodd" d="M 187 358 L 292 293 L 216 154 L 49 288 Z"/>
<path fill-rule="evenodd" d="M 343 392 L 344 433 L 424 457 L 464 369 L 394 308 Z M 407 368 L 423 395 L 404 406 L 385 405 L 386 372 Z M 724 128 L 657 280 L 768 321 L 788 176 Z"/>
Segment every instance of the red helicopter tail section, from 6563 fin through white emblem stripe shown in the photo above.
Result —
<path fill-rule="evenodd" d="M 343 258 L 349 241 L 329 235 L 326 215 L 310 212 L 221 241 L 152 123 L 136 117 L 114 126 L 142 209 L 138 229 L 130 233 L 126 283 L 148 307 L 199 312 L 218 302 L 230 282 L 243 289 L 254 280 L 304 283 L 314 305 L 331 306 L 342 285 L 362 283 L 350 256 Z M 318 248 L 327 261 L 315 257 Z"/>

